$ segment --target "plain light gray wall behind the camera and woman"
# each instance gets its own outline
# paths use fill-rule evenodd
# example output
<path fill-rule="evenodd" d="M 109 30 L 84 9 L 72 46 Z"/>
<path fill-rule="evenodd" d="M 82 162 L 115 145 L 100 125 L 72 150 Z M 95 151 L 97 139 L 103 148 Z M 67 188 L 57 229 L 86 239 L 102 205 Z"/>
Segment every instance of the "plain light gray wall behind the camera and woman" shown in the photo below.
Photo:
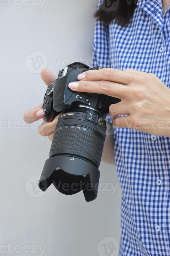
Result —
<path fill-rule="evenodd" d="M 118 255 L 121 189 L 115 166 L 101 163 L 102 190 L 95 201 L 87 203 L 83 193 L 62 195 L 53 186 L 41 193 L 38 178 L 51 142 L 38 134 L 38 123 L 25 125 L 22 119 L 43 99 L 43 67 L 56 73 L 65 59 L 91 59 L 97 0 L 3 0 L 0 5 L 0 252 Z"/>

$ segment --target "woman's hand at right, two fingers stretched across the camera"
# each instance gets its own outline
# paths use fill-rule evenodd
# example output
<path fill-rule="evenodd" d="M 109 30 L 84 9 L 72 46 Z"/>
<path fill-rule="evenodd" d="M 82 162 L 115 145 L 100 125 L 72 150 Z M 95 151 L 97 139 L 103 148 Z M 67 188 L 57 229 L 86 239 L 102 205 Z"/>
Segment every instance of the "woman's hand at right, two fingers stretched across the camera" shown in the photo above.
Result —
<path fill-rule="evenodd" d="M 113 126 L 170 137 L 170 89 L 156 75 L 103 68 L 84 72 L 78 79 L 80 82 L 69 84 L 71 90 L 121 99 L 109 108 Z"/>

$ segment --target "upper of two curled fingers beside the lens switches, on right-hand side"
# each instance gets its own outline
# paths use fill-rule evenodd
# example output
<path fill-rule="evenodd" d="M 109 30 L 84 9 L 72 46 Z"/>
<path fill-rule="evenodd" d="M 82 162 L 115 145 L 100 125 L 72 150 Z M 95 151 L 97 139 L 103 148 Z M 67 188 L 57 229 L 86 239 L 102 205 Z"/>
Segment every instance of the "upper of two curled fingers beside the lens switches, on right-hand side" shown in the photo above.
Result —
<path fill-rule="evenodd" d="M 115 118 L 115 115 L 126 115 L 130 114 L 130 109 L 128 108 L 127 104 L 124 101 L 118 102 L 116 104 L 112 104 L 109 107 L 109 113 L 111 119 Z"/>

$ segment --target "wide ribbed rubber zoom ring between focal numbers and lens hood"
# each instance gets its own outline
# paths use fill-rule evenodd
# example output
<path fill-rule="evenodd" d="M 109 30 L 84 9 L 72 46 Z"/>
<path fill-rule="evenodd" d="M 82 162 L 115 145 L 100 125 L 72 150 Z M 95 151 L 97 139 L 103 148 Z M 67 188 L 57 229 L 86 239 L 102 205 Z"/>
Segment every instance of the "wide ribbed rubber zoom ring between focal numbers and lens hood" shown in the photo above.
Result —
<path fill-rule="evenodd" d="M 93 131 L 89 132 L 74 128 L 62 128 L 58 131 L 56 130 L 54 134 L 50 155 L 52 155 L 52 152 L 56 150 L 62 151 L 62 149 L 70 149 L 75 150 L 75 155 L 78 155 L 78 152 L 82 152 L 92 156 L 100 163 L 103 147 L 104 141 L 94 134 Z M 85 155 L 85 157 L 88 158 L 87 155 Z"/>

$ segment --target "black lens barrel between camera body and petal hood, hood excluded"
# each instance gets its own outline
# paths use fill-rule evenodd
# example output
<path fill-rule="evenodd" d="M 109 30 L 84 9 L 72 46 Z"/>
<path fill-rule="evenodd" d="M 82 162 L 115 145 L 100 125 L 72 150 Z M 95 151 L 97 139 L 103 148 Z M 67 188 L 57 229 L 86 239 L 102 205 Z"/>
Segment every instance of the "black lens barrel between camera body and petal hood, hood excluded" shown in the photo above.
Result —
<path fill-rule="evenodd" d="M 70 108 L 60 115 L 50 157 L 69 154 L 91 161 L 99 167 L 105 141 L 105 123 L 99 118 L 98 112 L 88 108 L 79 111 Z"/>

